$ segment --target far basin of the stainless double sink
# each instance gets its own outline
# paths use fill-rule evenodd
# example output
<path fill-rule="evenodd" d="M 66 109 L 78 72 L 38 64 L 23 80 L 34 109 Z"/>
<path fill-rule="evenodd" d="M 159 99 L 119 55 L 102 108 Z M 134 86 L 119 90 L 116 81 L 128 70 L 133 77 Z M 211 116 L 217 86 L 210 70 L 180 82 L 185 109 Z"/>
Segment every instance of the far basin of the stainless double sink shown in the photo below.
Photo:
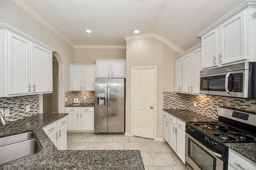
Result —
<path fill-rule="evenodd" d="M 33 132 L 27 132 L 27 133 L 8 136 L 8 137 L 2 137 L 0 138 L 0 147 L 17 143 L 17 142 L 26 141 L 26 140 L 32 139 L 33 137 L 35 137 L 35 134 Z"/>

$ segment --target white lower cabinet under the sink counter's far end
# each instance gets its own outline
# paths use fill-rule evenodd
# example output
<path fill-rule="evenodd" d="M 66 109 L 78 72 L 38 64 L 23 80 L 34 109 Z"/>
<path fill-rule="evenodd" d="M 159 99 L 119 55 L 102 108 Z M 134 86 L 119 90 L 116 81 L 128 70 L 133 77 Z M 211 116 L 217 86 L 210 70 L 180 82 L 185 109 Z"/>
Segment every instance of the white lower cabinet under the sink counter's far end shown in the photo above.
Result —
<path fill-rule="evenodd" d="M 67 149 L 67 116 L 42 127 L 58 150 Z"/>

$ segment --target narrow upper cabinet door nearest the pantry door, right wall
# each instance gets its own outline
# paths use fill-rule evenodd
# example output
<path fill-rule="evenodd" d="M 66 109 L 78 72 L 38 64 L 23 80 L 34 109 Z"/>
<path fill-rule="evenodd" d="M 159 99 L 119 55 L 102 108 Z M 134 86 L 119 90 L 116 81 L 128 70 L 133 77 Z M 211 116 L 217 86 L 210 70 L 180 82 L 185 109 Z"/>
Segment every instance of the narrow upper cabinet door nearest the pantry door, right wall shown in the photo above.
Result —
<path fill-rule="evenodd" d="M 182 57 L 175 60 L 175 92 L 182 91 Z"/>

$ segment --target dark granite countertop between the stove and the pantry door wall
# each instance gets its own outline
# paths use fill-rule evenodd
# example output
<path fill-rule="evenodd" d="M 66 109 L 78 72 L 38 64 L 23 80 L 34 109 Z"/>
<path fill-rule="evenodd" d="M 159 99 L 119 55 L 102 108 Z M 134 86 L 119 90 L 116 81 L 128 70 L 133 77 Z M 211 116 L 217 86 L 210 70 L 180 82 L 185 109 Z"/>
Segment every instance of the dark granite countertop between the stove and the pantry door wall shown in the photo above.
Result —
<path fill-rule="evenodd" d="M 216 119 L 212 119 L 210 117 L 201 115 L 194 111 L 190 111 L 187 109 L 164 109 L 167 113 L 177 117 L 178 119 L 187 122 L 187 121 L 217 121 Z"/>

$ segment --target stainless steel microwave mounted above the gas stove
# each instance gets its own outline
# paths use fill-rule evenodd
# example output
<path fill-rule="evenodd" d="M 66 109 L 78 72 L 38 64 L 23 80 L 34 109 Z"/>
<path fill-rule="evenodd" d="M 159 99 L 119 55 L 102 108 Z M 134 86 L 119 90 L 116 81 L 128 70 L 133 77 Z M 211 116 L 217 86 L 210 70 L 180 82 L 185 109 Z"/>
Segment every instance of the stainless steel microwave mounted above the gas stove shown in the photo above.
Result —
<path fill-rule="evenodd" d="M 256 99 L 256 62 L 200 71 L 200 93 Z"/>

